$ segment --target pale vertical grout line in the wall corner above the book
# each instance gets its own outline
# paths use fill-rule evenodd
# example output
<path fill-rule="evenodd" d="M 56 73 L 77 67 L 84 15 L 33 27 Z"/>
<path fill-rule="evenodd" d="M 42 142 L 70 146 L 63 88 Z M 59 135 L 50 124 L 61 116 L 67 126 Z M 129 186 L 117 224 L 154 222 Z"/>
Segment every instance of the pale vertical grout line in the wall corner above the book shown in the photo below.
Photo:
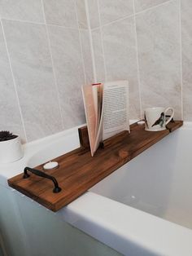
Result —
<path fill-rule="evenodd" d="M 96 66 L 95 66 L 95 58 L 94 58 L 94 44 L 93 44 L 91 27 L 90 27 L 89 7 L 88 7 L 87 0 L 85 0 L 85 12 L 86 12 L 86 17 L 87 17 L 87 26 L 88 26 L 88 32 L 89 32 L 89 45 L 90 45 L 90 53 L 91 53 L 92 66 L 93 66 L 93 72 L 94 72 L 94 82 L 98 82 Z"/>

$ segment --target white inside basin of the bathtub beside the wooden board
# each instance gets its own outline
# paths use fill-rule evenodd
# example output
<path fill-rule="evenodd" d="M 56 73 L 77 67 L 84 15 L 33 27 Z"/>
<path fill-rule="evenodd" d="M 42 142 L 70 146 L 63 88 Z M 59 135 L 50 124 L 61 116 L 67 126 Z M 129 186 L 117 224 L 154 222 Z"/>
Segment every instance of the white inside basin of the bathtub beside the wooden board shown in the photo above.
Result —
<path fill-rule="evenodd" d="M 175 131 L 90 191 L 192 228 L 191 135 Z"/>

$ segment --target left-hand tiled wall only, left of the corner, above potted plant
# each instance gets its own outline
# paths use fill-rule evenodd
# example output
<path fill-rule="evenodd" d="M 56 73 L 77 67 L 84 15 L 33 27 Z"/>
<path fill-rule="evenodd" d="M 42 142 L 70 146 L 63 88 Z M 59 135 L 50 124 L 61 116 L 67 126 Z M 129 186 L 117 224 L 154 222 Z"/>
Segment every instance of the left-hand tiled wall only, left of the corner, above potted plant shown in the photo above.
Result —
<path fill-rule="evenodd" d="M 81 0 L 0 1 L 0 130 L 23 141 L 85 122 L 89 31 Z"/>

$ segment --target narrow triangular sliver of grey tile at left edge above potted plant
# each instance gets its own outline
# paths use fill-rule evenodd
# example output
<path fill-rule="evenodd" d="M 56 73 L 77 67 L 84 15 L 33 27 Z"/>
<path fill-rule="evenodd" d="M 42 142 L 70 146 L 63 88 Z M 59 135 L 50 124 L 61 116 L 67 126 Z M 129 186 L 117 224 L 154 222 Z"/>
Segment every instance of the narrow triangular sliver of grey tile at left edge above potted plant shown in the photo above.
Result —
<path fill-rule="evenodd" d="M 26 138 L 22 126 L 19 104 L 15 95 L 15 87 L 11 77 L 11 68 L 8 61 L 7 49 L 0 26 L 0 130 L 10 130 Z"/>

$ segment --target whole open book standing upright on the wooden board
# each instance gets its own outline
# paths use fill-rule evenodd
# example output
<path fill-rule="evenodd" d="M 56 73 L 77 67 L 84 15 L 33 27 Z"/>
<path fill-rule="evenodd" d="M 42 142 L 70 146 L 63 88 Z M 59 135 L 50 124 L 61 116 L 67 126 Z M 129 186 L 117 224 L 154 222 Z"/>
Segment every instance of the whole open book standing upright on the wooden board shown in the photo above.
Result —
<path fill-rule="evenodd" d="M 92 157 L 99 143 L 129 130 L 128 81 L 82 86 L 89 144 Z"/>

